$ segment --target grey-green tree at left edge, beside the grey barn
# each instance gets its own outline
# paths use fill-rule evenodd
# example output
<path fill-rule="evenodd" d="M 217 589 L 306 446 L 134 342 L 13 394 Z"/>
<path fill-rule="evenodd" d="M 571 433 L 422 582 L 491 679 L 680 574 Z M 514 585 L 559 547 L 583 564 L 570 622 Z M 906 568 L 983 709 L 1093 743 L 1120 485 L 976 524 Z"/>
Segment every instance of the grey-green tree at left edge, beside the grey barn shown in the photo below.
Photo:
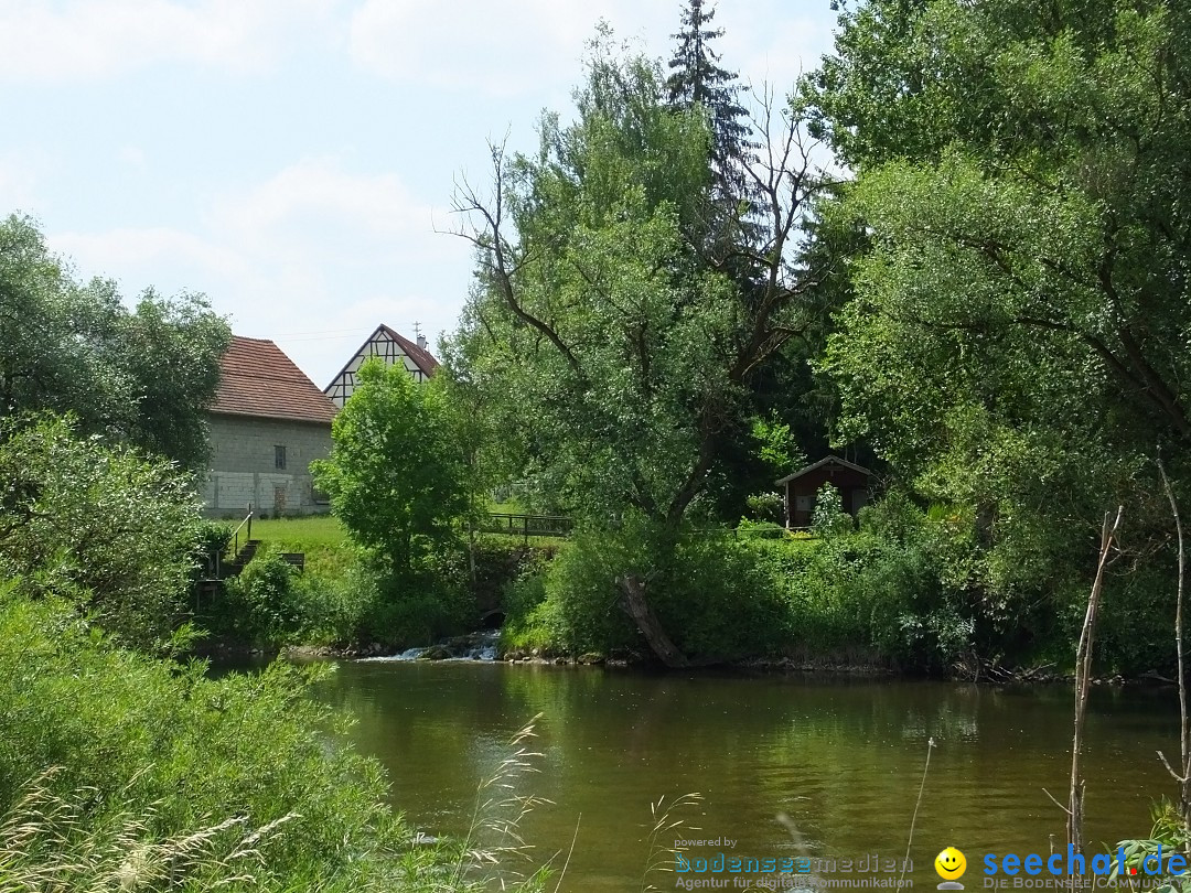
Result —
<path fill-rule="evenodd" d="M 204 298 L 150 289 L 130 313 L 113 282 L 76 282 L 31 220 L 10 217 L 0 320 L 0 418 L 71 413 L 81 431 L 201 467 L 205 410 L 231 337 Z"/>

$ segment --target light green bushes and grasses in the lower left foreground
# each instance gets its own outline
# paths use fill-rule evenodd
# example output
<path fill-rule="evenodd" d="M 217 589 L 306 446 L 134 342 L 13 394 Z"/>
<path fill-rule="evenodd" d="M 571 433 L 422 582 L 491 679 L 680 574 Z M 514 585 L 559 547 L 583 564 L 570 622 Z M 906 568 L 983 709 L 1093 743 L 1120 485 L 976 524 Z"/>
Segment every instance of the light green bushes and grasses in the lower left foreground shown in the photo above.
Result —
<path fill-rule="evenodd" d="M 379 763 L 306 694 L 326 664 L 210 679 L 204 663 L 121 649 L 66 602 L 18 588 L 0 581 L 6 889 L 492 888 L 500 866 L 475 841 L 414 845 Z"/>

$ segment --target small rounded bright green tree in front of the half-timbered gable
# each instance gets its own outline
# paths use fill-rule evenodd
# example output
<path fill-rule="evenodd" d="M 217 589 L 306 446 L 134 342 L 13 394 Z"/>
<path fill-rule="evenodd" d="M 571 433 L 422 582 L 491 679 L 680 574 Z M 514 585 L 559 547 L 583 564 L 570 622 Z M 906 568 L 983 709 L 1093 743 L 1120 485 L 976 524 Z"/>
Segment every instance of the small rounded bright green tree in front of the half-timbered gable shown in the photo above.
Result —
<path fill-rule="evenodd" d="M 330 457 L 311 473 L 353 538 L 407 583 L 455 536 L 467 507 L 463 458 L 432 382 L 378 358 L 358 381 L 331 425 Z"/>

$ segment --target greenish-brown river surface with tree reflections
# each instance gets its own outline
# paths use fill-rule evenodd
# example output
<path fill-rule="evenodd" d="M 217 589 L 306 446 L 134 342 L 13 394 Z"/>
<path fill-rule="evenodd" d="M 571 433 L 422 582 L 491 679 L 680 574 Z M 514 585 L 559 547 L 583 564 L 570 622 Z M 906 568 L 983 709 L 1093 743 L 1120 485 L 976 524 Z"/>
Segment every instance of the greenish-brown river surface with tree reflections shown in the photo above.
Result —
<path fill-rule="evenodd" d="M 356 714 L 353 737 L 388 768 L 393 803 L 435 835 L 467 829 L 476 787 L 541 713 L 541 773 L 520 793 L 554 805 L 529 817 L 524 836 L 544 860 L 567 850 L 578 824 L 572 891 L 638 888 L 650 803 L 692 792 L 704 799 L 684 813 L 682 838 L 730 838 L 756 857 L 900 858 L 931 737 L 915 886 L 935 887 L 931 863 L 947 845 L 967 855 L 975 889 L 985 853 L 1048 854 L 1064 839 L 1064 816 L 1045 793 L 1066 799 L 1072 697 L 1062 686 L 345 662 L 318 697 Z M 1093 692 L 1085 837 L 1149 831 L 1151 800 L 1173 793 L 1154 751 L 1177 751 L 1177 731 L 1171 692 Z M 674 886 L 673 875 L 653 880 Z"/>

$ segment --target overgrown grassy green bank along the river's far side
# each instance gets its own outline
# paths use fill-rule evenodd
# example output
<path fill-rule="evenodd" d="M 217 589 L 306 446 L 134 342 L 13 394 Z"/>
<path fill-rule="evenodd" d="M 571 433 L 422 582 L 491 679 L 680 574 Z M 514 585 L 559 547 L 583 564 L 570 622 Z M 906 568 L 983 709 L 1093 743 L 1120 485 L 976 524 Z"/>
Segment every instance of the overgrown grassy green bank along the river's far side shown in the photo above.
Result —
<path fill-rule="evenodd" d="M 667 554 L 632 529 L 529 547 L 517 536 L 484 535 L 474 580 L 460 547 L 425 579 L 386 588 L 335 518 L 258 522 L 252 535 L 266 555 L 303 551 L 307 570 L 291 583 L 297 594 L 281 599 L 288 607 L 270 607 L 263 623 L 250 624 L 251 636 L 269 644 L 428 644 L 474 629 L 478 604 L 499 604 L 505 652 L 649 660 L 619 608 L 617 580 L 635 569 L 662 626 L 697 662 L 1067 672 L 1081 583 L 1055 579 L 1019 589 L 1012 602 L 994 600 L 973 560 L 975 541 L 956 524 L 954 512 L 891 501 L 866 510 L 859 526 L 849 520 L 812 538 L 746 525 L 692 531 Z M 1127 604 L 1124 592 L 1106 601 L 1112 622 L 1097 641 L 1102 672 L 1164 672 L 1166 655 L 1137 645 L 1158 636 L 1151 627 L 1164 623 L 1161 611 L 1140 616 Z"/>

